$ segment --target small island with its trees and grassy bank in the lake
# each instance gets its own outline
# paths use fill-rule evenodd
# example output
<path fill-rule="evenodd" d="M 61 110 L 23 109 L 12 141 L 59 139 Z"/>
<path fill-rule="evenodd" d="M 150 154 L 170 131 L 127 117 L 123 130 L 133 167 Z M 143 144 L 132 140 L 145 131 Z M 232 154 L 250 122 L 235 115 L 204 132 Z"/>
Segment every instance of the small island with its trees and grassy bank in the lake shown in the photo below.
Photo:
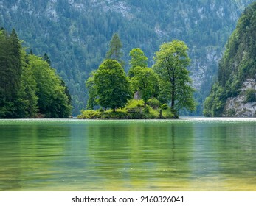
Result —
<path fill-rule="evenodd" d="M 129 53 L 130 69 L 125 73 L 122 43 L 113 35 L 105 60 L 86 81 L 87 110 L 77 118 L 148 119 L 179 118 L 179 110 L 196 109 L 187 45 L 181 40 L 163 43 L 156 51 L 155 64 L 135 48 Z"/>

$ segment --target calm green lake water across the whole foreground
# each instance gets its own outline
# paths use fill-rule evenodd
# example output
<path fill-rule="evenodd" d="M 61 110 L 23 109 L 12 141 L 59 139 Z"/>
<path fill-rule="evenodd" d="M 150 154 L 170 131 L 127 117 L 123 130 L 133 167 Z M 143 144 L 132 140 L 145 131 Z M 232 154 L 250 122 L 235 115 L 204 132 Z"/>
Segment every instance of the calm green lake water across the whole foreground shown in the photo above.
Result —
<path fill-rule="evenodd" d="M 0 120 L 0 191 L 256 191 L 256 118 Z"/>

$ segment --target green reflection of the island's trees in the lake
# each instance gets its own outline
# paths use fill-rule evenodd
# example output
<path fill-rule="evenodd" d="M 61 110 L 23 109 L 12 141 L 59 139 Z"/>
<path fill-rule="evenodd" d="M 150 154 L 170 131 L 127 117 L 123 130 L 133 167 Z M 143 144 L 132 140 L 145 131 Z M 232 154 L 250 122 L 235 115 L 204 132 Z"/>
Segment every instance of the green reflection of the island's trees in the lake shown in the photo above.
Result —
<path fill-rule="evenodd" d="M 148 181 L 187 176 L 193 127 L 156 122 L 88 127 L 95 172 L 109 179 Z"/>

